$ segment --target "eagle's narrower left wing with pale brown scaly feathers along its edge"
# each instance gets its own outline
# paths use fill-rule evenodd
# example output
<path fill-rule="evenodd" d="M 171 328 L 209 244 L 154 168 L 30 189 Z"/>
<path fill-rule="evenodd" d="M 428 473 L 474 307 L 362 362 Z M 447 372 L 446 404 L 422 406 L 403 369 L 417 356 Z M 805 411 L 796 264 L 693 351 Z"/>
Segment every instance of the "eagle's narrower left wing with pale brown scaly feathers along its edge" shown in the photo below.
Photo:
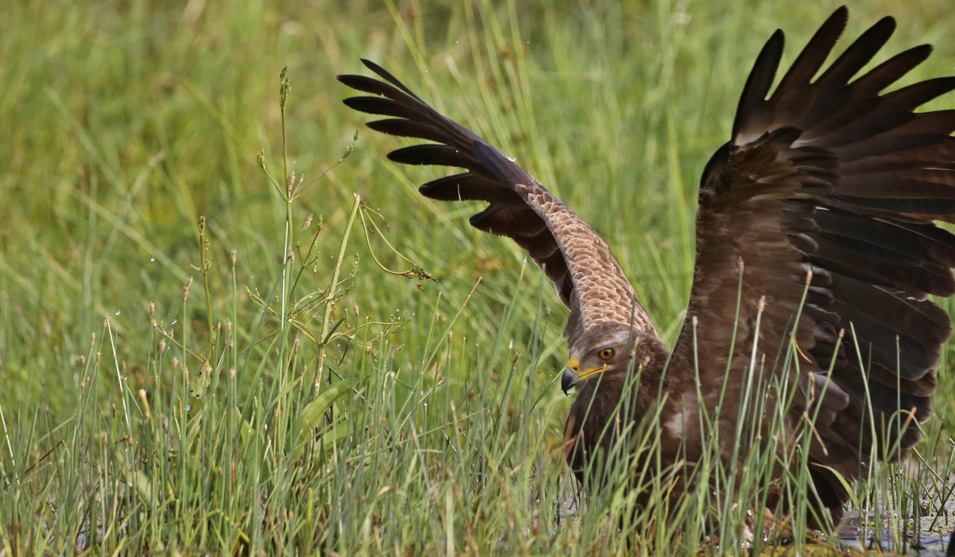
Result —
<path fill-rule="evenodd" d="M 339 75 L 352 89 L 381 96 L 353 96 L 345 104 L 363 113 L 392 116 L 369 122 L 385 134 L 429 139 L 388 155 L 395 162 L 467 169 L 421 186 L 442 201 L 482 200 L 487 209 L 471 217 L 478 230 L 513 239 L 545 268 L 570 309 L 564 336 L 572 345 L 596 323 L 631 320 L 647 333 L 653 325 L 605 241 L 581 217 L 544 189 L 527 171 L 470 130 L 441 115 L 377 64 L 362 60 L 384 83 L 364 75 Z M 389 85 L 391 84 L 391 85 Z M 384 97 L 384 98 L 382 98 Z"/>

